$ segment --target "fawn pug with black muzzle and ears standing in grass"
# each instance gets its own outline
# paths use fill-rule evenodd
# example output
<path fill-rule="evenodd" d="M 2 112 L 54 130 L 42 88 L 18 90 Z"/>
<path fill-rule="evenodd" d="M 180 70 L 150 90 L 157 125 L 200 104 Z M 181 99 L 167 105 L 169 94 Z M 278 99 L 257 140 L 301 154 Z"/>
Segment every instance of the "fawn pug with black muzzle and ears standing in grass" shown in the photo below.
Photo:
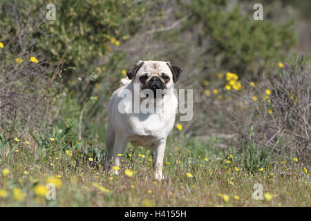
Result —
<path fill-rule="evenodd" d="M 174 85 L 182 70 L 169 61 L 138 61 L 126 70 L 120 88 L 108 106 L 106 163 L 120 166 L 126 144 L 153 151 L 155 179 L 162 180 L 162 164 L 167 136 L 175 123 L 178 99 Z M 149 111 L 143 110 L 146 104 Z M 150 111 L 151 110 L 151 111 Z M 117 171 L 114 171 L 117 173 Z"/>

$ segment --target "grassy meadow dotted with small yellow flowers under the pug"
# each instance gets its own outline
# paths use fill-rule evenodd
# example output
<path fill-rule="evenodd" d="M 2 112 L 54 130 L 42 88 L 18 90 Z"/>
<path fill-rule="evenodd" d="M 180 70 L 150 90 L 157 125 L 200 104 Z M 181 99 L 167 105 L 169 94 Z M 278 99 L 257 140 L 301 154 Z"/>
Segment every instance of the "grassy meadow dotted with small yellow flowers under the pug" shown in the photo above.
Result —
<path fill-rule="evenodd" d="M 33 135 L 28 137 L 30 144 L 2 136 L 0 206 L 311 206 L 309 173 L 292 158 L 284 164 L 265 162 L 260 171 L 263 165 L 249 169 L 239 160 L 245 157 L 232 148 L 214 155 L 215 144 L 171 138 L 164 157 L 165 178 L 155 182 L 151 150 L 129 145 L 120 174 L 114 175 L 103 170 L 103 144 L 77 142 L 75 133 L 57 130 L 55 140 Z M 125 169 L 133 176 L 124 175 Z M 45 191 L 35 194 L 48 177 L 61 181 L 56 200 L 46 200 Z M 252 198 L 256 183 L 263 185 L 264 200 Z"/>

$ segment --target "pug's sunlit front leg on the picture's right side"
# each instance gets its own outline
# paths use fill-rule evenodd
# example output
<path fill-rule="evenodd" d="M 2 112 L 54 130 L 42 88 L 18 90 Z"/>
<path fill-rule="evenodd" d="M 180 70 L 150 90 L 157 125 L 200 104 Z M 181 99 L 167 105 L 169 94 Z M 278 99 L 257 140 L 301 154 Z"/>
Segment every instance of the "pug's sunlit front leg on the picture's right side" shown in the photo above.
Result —
<path fill-rule="evenodd" d="M 163 166 L 163 157 L 165 151 L 165 145 L 167 140 L 161 139 L 153 147 L 153 164 L 155 169 L 155 179 L 162 180 L 162 166 Z"/>

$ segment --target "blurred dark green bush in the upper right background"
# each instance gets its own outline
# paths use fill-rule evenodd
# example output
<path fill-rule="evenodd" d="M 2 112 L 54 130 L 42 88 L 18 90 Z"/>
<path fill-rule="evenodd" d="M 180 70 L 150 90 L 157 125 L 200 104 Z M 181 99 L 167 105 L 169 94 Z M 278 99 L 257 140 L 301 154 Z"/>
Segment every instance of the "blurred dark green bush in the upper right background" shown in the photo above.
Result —
<path fill-rule="evenodd" d="M 221 68 L 239 77 L 258 78 L 296 41 L 293 21 L 255 21 L 252 8 L 245 12 L 241 5 L 232 6 L 226 0 L 190 1 L 187 7 L 192 16 L 186 28 L 202 23 L 201 32 L 196 33 L 197 44 L 202 44 L 202 38 L 209 39 L 204 54 L 213 55 Z"/>

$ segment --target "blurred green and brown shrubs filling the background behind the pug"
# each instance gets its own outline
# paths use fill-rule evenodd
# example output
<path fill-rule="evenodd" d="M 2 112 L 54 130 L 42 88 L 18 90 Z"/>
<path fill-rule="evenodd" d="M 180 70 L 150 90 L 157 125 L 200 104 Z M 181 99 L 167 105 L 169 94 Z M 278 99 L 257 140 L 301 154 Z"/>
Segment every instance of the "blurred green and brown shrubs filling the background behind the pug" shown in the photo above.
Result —
<path fill-rule="evenodd" d="M 290 154 L 310 160 L 310 77 L 301 77 L 310 76 L 310 1 L 50 2 L 55 21 L 46 20 L 44 0 L 0 1 L 2 140 L 47 137 L 55 126 L 75 125 L 78 140 L 104 146 L 106 106 L 124 70 L 139 59 L 156 59 L 182 68 L 177 88 L 194 89 L 194 119 L 179 122 L 182 130 L 173 130 L 171 144 L 185 138 L 241 146 L 253 126 L 262 148 L 279 153 L 299 146 Z M 263 4 L 263 21 L 254 21 L 254 3 Z M 300 77 L 286 78 L 290 71 Z M 282 76 L 295 81 L 294 88 L 273 84 Z M 267 124 L 292 108 L 278 103 L 269 118 L 275 99 L 267 89 L 276 97 L 286 90 L 292 102 L 293 91 L 299 91 L 295 105 L 304 122 L 276 124 L 267 134 Z M 303 138 L 294 136 L 297 126 L 305 131 Z M 294 135 L 287 137 L 284 130 Z"/>

